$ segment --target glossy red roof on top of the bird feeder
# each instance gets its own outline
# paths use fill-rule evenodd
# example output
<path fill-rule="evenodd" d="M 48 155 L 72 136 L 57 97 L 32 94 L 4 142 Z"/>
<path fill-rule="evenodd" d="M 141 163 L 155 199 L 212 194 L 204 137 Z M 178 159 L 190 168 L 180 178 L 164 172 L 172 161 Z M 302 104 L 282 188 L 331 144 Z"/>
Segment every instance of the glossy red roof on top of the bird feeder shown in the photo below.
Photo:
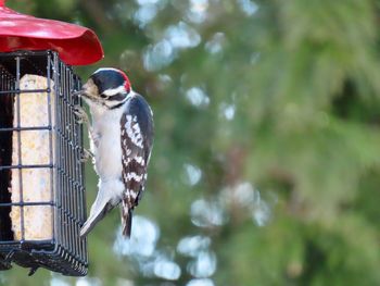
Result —
<path fill-rule="evenodd" d="M 69 65 L 94 63 L 103 58 L 97 35 L 88 28 L 13 11 L 0 0 L 0 52 L 54 50 Z"/>

